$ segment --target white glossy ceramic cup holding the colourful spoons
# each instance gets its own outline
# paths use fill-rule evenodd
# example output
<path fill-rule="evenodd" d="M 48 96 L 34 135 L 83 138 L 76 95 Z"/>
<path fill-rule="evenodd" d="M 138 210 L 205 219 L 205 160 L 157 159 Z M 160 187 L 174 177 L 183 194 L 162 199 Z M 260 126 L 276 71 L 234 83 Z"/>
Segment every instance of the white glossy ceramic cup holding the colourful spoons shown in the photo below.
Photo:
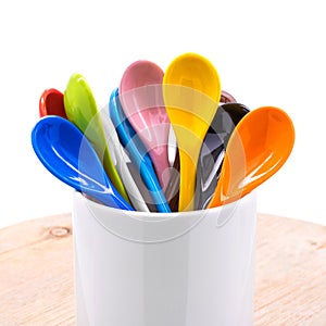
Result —
<path fill-rule="evenodd" d="M 252 325 L 255 202 L 141 213 L 75 192 L 77 325 Z"/>

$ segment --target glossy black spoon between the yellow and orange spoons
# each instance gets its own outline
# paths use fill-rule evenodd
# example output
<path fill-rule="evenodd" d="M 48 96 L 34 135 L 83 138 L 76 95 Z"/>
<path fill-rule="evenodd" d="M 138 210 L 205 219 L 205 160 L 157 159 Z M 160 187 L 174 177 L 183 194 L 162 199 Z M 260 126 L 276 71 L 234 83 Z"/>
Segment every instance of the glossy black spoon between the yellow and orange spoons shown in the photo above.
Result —
<path fill-rule="evenodd" d="M 204 138 L 197 167 L 195 208 L 205 209 L 214 195 L 225 149 L 235 126 L 249 112 L 240 103 L 226 103 L 218 106 L 214 120 Z"/>

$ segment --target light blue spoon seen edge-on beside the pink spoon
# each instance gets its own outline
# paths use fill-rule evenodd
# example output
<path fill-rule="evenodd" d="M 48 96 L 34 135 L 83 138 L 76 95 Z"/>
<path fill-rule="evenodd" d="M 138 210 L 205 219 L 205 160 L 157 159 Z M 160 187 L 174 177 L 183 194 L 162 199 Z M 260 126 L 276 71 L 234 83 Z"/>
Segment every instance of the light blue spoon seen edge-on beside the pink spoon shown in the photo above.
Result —
<path fill-rule="evenodd" d="M 158 212 L 170 213 L 171 209 L 160 186 L 151 159 L 146 147 L 127 120 L 118 99 L 118 89 L 112 91 L 109 103 L 110 117 L 123 147 L 140 172 L 141 178 L 150 191 Z"/>

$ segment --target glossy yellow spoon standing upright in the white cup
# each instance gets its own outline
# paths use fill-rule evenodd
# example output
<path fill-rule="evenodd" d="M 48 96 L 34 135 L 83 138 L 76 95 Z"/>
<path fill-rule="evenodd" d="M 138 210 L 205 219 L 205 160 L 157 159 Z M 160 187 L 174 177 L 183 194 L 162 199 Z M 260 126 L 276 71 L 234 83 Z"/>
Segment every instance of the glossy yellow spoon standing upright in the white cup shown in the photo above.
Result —
<path fill-rule="evenodd" d="M 220 76 L 205 58 L 181 54 L 164 74 L 163 98 L 179 149 L 179 211 L 191 211 L 197 161 L 221 98 Z"/>

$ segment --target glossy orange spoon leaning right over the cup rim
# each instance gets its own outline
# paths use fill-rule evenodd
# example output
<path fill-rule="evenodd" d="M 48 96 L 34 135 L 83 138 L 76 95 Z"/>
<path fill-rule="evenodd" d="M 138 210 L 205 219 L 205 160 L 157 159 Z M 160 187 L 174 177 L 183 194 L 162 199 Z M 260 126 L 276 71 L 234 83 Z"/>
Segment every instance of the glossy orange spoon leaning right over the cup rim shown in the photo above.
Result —
<path fill-rule="evenodd" d="M 209 208 L 251 192 L 284 165 L 293 145 L 294 127 L 286 112 L 263 106 L 248 113 L 228 141 L 221 177 Z"/>

